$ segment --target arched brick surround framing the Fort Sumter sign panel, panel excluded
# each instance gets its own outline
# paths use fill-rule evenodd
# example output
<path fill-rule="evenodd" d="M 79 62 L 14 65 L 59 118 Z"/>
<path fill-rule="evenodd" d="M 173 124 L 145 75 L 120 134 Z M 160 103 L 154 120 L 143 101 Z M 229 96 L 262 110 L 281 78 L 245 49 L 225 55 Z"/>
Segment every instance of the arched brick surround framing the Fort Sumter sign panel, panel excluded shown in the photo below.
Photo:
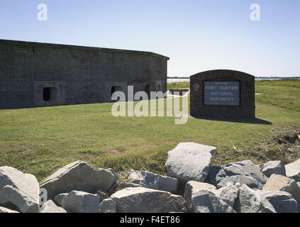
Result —
<path fill-rule="evenodd" d="M 204 81 L 240 82 L 240 106 L 204 105 Z M 255 77 L 233 70 L 211 70 L 191 76 L 191 116 L 196 118 L 255 118 Z M 199 89 L 195 89 L 198 88 Z"/>

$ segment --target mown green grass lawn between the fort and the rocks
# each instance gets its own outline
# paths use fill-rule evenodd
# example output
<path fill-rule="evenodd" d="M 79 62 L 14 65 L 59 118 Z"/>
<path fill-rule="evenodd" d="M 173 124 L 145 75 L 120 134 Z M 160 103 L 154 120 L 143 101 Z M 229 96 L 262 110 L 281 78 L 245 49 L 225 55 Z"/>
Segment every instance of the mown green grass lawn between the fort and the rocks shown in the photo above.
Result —
<path fill-rule="evenodd" d="M 189 87 L 189 83 L 170 84 Z M 256 116 L 272 125 L 175 117 L 113 117 L 112 104 L 55 106 L 0 111 L 0 166 L 17 167 L 39 180 L 75 160 L 94 167 L 165 173 L 167 152 L 180 142 L 218 148 L 213 164 L 250 159 L 265 162 L 244 148 L 266 140 L 274 128 L 300 126 L 300 80 L 256 82 Z M 274 154 L 274 159 L 277 157 Z"/>

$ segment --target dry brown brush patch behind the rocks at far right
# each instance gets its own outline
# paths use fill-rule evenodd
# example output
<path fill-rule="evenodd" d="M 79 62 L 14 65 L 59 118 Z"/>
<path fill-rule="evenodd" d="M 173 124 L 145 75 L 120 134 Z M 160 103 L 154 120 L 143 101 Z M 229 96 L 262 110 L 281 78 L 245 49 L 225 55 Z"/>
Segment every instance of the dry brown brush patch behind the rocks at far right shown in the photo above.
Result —
<path fill-rule="evenodd" d="M 230 150 L 219 150 L 213 156 L 212 165 L 252 160 L 256 164 L 281 160 L 285 165 L 300 158 L 300 125 L 276 126 L 266 134 L 260 134 L 262 142 L 237 145 Z M 251 136 L 250 136 L 251 139 Z"/>

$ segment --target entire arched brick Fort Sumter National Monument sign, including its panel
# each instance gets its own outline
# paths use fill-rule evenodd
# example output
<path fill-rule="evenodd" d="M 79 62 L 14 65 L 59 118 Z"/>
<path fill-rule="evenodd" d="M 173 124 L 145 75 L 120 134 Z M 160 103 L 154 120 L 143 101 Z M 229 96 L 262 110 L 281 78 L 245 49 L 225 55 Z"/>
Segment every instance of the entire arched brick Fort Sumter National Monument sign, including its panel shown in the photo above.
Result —
<path fill-rule="evenodd" d="M 255 77 L 233 70 L 191 76 L 190 114 L 196 118 L 255 119 Z"/>

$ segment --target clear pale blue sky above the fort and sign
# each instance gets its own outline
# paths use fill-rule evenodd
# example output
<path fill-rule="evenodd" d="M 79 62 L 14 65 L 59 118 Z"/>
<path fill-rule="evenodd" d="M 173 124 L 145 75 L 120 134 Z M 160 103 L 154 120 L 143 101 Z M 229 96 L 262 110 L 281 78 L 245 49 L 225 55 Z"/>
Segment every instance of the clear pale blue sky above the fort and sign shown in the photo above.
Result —
<path fill-rule="evenodd" d="M 48 21 L 38 21 L 47 4 Z M 260 4 L 260 21 L 250 5 Z M 145 50 L 168 76 L 300 76 L 299 0 L 0 0 L 0 39 Z"/>

